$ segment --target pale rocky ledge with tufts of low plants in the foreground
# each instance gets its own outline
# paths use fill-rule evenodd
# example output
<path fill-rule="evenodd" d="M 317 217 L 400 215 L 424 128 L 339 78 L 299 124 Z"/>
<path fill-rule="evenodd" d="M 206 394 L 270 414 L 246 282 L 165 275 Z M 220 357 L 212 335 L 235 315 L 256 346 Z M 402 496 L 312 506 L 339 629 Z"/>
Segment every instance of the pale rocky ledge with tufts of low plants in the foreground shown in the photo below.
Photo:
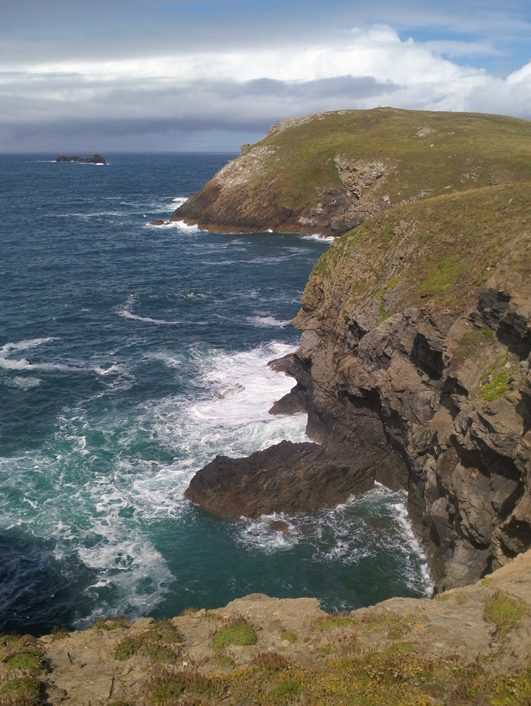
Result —
<path fill-rule="evenodd" d="M 531 551 L 438 599 L 393 598 L 349 614 L 326 614 L 313 598 L 252 594 L 171 621 L 4 636 L 0 703 L 37 703 L 29 692 L 8 700 L 10 685 L 20 696 L 33 683 L 49 704 L 70 706 L 525 706 L 530 604 Z M 42 662 L 28 668 L 32 653 Z"/>

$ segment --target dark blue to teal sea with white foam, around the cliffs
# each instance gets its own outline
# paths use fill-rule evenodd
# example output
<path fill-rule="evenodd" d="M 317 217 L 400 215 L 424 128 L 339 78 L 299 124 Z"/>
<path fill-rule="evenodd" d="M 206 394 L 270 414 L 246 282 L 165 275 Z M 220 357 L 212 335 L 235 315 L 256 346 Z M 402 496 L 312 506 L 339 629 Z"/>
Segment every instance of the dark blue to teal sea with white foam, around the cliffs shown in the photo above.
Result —
<path fill-rule="evenodd" d="M 221 520 L 197 469 L 281 439 L 293 380 L 266 363 L 329 242 L 172 224 L 236 155 L 0 155 L 0 630 L 174 616 L 252 592 L 353 609 L 430 590 L 405 499 L 378 486 L 317 515 Z"/>

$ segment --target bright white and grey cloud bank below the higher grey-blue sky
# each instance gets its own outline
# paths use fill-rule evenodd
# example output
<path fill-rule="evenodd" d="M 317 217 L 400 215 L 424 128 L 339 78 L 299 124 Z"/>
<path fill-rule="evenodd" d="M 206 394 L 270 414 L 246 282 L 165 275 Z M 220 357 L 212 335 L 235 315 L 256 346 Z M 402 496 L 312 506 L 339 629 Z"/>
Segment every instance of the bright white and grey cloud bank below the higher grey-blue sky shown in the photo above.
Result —
<path fill-rule="evenodd" d="M 480 52 L 473 43 L 401 41 L 373 25 L 307 48 L 4 66 L 0 124 L 13 140 L 68 121 L 108 134 L 112 121 L 138 133 L 260 131 L 287 115 L 377 104 L 531 117 L 531 64 L 503 80 L 441 56 L 451 50 Z"/>

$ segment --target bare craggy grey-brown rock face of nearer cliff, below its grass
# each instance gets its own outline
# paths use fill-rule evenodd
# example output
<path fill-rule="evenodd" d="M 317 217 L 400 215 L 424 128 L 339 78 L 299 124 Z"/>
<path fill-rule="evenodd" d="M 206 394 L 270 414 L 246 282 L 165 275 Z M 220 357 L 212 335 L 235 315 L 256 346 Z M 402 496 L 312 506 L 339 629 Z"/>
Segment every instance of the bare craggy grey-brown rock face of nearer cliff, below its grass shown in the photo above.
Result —
<path fill-rule="evenodd" d="M 379 257 L 393 262 L 392 249 Z M 294 397 L 310 438 L 386 448 L 394 467 L 379 462 L 376 477 L 408 490 L 437 590 L 463 586 L 531 546 L 529 292 L 493 279 L 463 310 L 411 306 L 379 321 L 374 297 L 348 304 L 371 265 L 353 253 L 310 278 L 288 367 L 297 385 L 274 411 Z M 511 389 L 484 402 L 484 371 L 500 357 Z"/>

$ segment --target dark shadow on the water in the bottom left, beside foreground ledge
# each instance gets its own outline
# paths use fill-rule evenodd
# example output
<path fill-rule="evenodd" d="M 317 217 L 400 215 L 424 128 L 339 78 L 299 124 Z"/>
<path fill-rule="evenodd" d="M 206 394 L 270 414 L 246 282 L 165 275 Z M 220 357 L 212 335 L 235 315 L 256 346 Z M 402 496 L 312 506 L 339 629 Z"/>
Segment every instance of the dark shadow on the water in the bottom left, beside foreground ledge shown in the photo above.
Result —
<path fill-rule="evenodd" d="M 32 633 L 46 633 L 80 617 L 83 606 L 76 597 L 95 573 L 76 554 L 59 558 L 55 549 L 53 542 L 18 529 L 0 532 L 0 631 L 28 626 Z"/>

